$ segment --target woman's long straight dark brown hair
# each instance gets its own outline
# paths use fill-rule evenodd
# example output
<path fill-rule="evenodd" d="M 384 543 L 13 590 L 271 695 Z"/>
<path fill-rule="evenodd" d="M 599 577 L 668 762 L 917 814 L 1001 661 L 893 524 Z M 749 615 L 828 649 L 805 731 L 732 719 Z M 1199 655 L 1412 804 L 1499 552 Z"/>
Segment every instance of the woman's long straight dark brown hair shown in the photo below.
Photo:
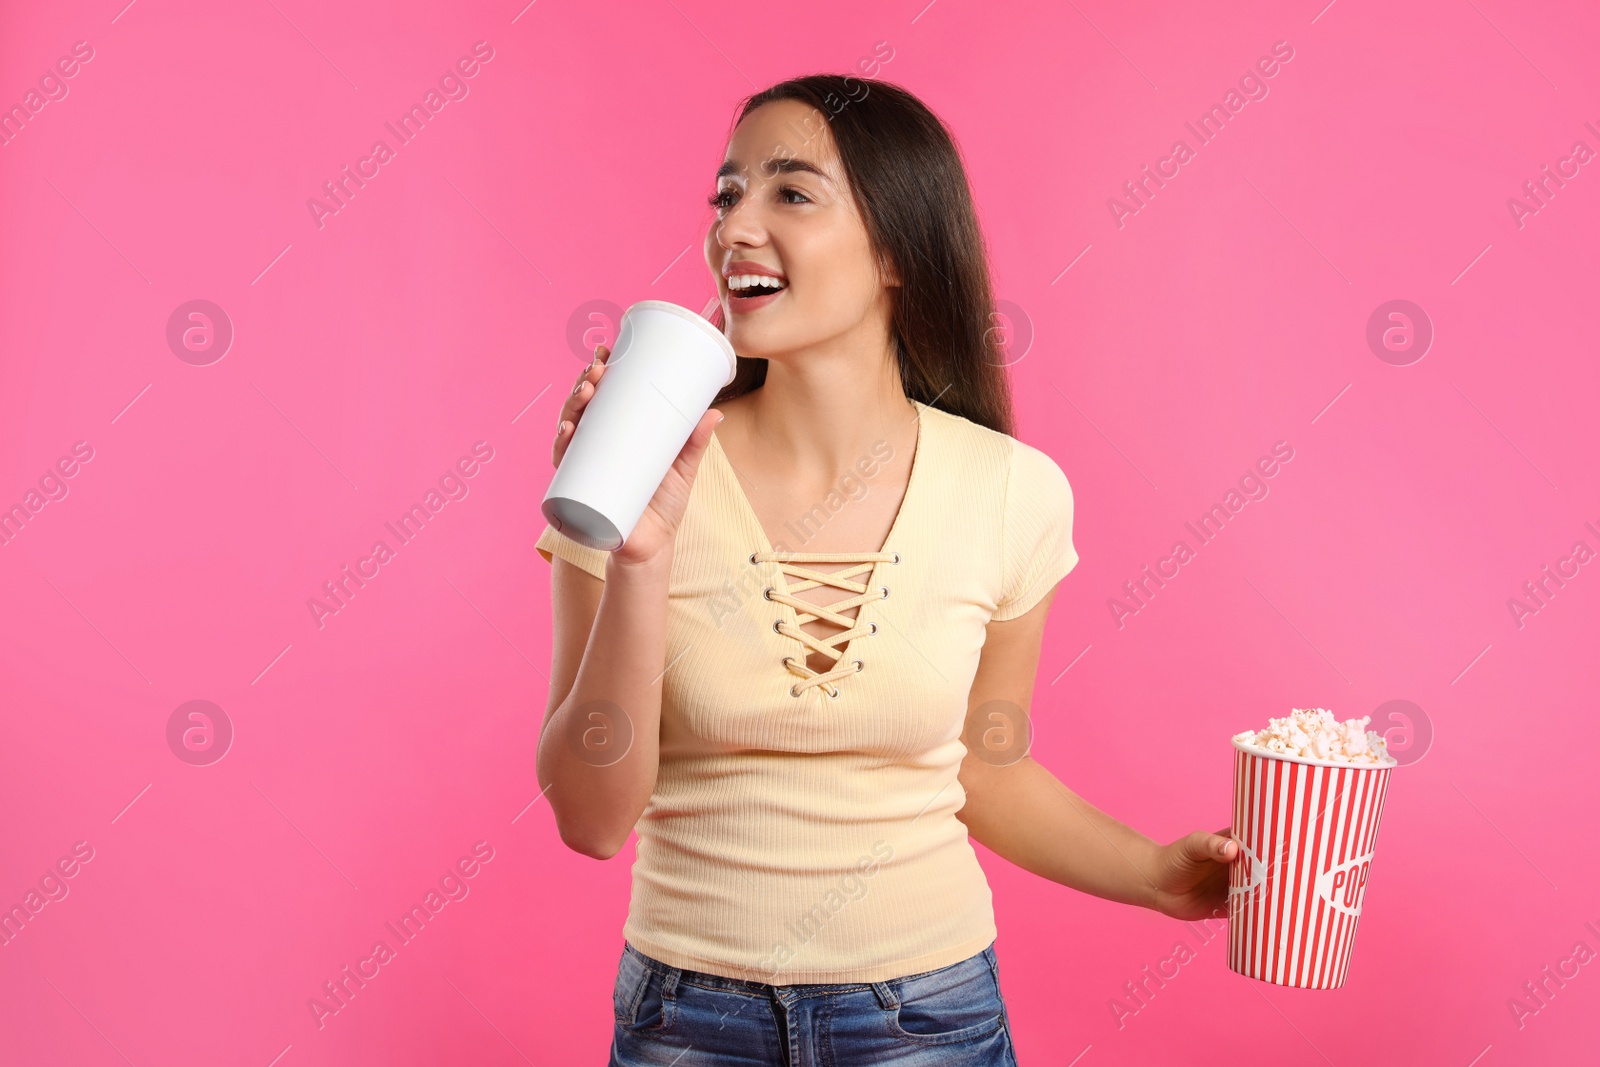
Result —
<path fill-rule="evenodd" d="M 994 328 L 989 258 L 950 131 L 904 88 L 842 74 L 762 90 L 733 125 L 784 99 L 829 117 L 867 238 L 899 275 L 890 325 L 906 395 L 1010 435 L 1011 384 Z M 720 302 L 710 322 L 726 330 Z M 765 381 L 766 360 L 741 355 L 712 403 Z"/>

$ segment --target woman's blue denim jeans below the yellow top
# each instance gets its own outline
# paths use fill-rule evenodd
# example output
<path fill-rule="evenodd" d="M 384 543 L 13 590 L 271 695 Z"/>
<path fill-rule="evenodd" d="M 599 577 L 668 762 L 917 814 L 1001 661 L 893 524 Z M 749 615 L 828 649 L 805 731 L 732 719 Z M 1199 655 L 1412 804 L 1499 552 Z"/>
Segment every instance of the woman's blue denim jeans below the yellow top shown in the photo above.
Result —
<path fill-rule="evenodd" d="M 610 1067 L 1016 1067 L 994 945 L 883 982 L 766 985 L 624 942 Z"/>

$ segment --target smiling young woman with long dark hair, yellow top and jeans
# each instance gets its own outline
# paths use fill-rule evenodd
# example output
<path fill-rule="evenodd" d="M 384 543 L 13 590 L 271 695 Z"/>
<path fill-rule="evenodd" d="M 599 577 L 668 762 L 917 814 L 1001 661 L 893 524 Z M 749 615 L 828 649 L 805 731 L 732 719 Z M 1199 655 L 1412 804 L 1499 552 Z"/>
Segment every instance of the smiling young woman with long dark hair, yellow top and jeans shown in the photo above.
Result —
<path fill-rule="evenodd" d="M 538 541 L 539 784 L 587 856 L 638 832 L 611 1064 L 1014 1064 L 970 838 L 1174 918 L 1218 913 L 1237 846 L 1157 845 L 1027 755 L 1072 491 L 1011 437 L 942 123 L 890 83 L 784 82 L 710 205 L 734 381 L 627 544 Z"/>

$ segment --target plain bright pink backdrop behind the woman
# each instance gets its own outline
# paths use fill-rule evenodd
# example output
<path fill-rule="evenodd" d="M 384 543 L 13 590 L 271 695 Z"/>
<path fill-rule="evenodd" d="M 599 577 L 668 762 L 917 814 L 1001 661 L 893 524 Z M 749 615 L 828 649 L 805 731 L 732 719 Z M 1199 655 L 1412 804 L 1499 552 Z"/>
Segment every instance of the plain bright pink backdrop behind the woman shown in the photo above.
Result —
<path fill-rule="evenodd" d="M 1507 606 L 1600 549 L 1600 163 L 1507 208 L 1600 149 L 1592 8 L 123 2 L 6 3 L 0 32 L 6 107 L 94 50 L 0 147 L 0 506 L 93 448 L 0 545 L 0 904 L 93 848 L 0 947 L 6 1064 L 602 1062 L 632 849 L 570 853 L 530 806 L 566 336 L 589 301 L 701 307 L 738 99 L 878 42 L 960 139 L 1032 330 L 1019 437 L 1077 491 L 1035 755 L 1166 840 L 1226 824 L 1227 737 L 1269 715 L 1405 699 L 1434 734 L 1342 990 L 1238 977 L 1218 939 L 1126 1000 L 1184 928 L 979 849 L 1021 1062 L 1592 1053 L 1600 965 L 1509 1001 L 1600 950 L 1600 565 Z M 478 40 L 469 96 L 318 227 L 307 198 Z M 1197 146 L 1280 40 L 1269 96 Z M 1178 138 L 1195 158 L 1118 227 Z M 234 325 L 208 366 L 166 344 L 190 299 Z M 1390 299 L 1435 330 L 1408 366 L 1365 339 Z M 1280 440 L 1270 494 L 1118 627 L 1122 584 Z M 469 494 L 318 627 L 307 600 L 475 442 Z M 166 741 L 194 699 L 235 731 L 210 766 Z M 477 841 L 469 896 L 318 1029 L 307 1000 Z"/>

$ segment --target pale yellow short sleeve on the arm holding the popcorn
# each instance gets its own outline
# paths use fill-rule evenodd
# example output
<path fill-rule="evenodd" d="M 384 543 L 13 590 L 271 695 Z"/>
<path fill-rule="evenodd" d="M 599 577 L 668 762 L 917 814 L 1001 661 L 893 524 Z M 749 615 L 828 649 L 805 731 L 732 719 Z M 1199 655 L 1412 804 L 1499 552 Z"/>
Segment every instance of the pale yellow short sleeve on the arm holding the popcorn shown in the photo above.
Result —
<path fill-rule="evenodd" d="M 1000 601 L 990 617 L 1026 614 L 1077 565 L 1067 475 L 1046 453 L 1013 438 L 1000 528 Z"/>

